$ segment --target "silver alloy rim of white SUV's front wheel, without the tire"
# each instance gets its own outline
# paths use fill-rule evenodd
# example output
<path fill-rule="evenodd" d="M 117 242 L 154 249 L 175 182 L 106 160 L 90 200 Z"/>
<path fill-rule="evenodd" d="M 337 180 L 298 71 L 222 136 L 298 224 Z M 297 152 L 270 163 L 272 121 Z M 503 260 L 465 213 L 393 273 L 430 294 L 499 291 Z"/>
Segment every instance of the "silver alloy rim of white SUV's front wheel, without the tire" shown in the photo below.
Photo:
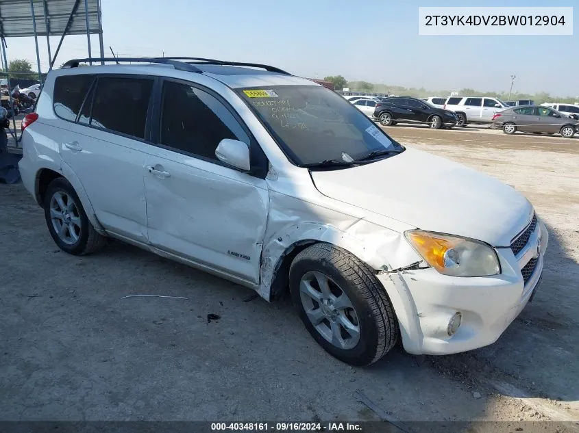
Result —
<path fill-rule="evenodd" d="M 299 282 L 299 298 L 315 330 L 332 345 L 349 350 L 360 341 L 360 322 L 352 301 L 331 278 L 307 272 Z"/>

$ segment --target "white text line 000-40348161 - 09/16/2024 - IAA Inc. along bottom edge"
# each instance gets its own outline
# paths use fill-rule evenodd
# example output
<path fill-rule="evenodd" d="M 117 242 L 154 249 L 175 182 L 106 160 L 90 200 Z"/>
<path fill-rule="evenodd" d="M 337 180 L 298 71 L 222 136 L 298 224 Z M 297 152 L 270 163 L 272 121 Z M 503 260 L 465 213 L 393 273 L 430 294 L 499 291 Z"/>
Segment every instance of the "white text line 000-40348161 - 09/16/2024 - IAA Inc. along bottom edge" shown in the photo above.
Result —
<path fill-rule="evenodd" d="M 239 432 L 355 432 L 362 430 L 359 423 L 211 423 L 211 430 Z"/>

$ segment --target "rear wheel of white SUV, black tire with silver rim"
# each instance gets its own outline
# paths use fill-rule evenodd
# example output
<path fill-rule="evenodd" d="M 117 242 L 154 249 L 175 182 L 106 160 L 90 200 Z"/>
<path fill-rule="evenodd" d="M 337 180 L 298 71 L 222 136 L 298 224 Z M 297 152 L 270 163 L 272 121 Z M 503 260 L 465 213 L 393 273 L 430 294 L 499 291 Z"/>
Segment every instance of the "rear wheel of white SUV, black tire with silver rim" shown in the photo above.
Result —
<path fill-rule="evenodd" d="M 75 189 L 64 177 L 54 179 L 48 185 L 44 208 L 50 235 L 64 252 L 82 256 L 96 252 L 107 244 L 107 238 L 99 235 L 93 224 L 90 224 Z M 62 218 L 53 219 L 52 216 L 59 213 L 59 210 Z M 58 227 L 64 225 L 68 228 L 59 234 Z"/>

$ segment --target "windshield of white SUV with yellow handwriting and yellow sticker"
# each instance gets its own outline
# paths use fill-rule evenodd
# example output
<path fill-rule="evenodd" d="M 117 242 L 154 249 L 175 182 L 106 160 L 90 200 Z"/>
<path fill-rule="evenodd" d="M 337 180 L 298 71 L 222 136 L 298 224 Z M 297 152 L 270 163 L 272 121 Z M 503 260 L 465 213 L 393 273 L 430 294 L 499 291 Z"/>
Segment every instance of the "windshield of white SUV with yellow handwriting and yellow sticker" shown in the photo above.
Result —
<path fill-rule="evenodd" d="M 238 94 L 298 166 L 403 149 L 352 103 L 321 86 L 240 89 Z"/>

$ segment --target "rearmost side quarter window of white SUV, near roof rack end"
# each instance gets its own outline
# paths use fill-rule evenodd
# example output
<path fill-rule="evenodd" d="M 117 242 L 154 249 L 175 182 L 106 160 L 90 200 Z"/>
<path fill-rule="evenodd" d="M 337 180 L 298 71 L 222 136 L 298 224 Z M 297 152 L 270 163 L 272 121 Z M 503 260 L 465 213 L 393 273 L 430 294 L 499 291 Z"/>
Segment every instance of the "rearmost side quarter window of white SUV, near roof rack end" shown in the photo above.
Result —
<path fill-rule="evenodd" d="M 56 116 L 74 122 L 94 75 L 62 75 L 54 81 L 53 107 Z"/>

